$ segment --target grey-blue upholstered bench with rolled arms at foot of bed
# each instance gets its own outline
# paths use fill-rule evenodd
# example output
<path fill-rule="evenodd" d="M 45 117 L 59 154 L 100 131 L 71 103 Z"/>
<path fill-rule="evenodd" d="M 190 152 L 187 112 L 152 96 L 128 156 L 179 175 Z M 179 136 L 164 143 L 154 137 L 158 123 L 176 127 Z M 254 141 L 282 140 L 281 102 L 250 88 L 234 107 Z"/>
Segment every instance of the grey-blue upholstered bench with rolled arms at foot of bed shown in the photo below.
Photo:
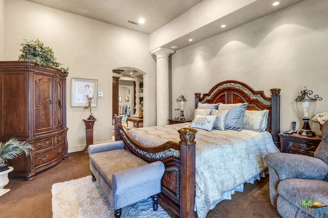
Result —
<path fill-rule="evenodd" d="M 101 189 L 120 217 L 121 208 L 152 196 L 158 208 L 160 181 L 165 171 L 161 161 L 147 163 L 124 149 L 122 141 L 89 146 L 92 180 Z"/>

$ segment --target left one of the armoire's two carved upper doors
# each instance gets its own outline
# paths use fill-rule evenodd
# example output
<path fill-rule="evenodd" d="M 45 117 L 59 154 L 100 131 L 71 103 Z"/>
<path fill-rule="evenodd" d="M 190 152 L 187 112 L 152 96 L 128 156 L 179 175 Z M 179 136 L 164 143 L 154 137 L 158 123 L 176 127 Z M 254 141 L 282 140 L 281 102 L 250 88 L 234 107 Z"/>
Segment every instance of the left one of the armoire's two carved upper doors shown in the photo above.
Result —
<path fill-rule="evenodd" d="M 35 134 L 53 131 L 53 76 L 34 74 Z"/>

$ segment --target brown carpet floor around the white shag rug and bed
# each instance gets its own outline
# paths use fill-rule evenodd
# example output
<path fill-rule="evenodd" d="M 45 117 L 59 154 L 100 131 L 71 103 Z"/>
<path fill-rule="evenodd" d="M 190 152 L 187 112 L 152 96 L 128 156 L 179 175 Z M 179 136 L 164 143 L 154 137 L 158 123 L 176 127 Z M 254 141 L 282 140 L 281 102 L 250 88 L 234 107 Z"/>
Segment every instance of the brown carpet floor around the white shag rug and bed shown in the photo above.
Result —
<path fill-rule="evenodd" d="M 89 155 L 83 152 L 70 153 L 68 160 L 36 174 L 32 181 L 10 178 L 5 188 L 11 190 L 0 197 L 0 217 L 52 217 L 51 186 L 90 175 Z M 88 187 L 85 187 L 88 188 Z M 171 217 L 174 212 L 159 202 Z M 270 203 L 269 177 L 245 184 L 244 192 L 236 192 L 232 200 L 220 202 L 210 210 L 207 218 L 218 217 L 281 217 Z"/>

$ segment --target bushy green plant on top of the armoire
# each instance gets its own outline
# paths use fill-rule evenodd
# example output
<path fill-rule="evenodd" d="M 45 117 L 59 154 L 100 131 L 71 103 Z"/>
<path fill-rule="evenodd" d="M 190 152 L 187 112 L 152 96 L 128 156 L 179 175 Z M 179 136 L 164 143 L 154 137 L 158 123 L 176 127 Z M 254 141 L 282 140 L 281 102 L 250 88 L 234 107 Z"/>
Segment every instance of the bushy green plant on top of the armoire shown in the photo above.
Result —
<path fill-rule="evenodd" d="M 23 54 L 18 56 L 18 61 L 34 61 L 40 66 L 55 67 L 64 73 L 68 72 L 69 68 L 62 67 L 63 64 L 56 61 L 52 48 L 45 46 L 39 39 L 28 41 L 23 38 L 23 43 L 19 45 L 22 46 L 19 51 Z"/>

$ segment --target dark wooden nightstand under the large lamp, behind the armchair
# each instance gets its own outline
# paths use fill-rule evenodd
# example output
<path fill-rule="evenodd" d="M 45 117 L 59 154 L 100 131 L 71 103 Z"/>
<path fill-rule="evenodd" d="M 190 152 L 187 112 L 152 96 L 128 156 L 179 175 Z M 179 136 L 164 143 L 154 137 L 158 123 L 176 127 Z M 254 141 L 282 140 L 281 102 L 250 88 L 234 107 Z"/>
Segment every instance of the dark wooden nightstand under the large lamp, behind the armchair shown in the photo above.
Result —
<path fill-rule="evenodd" d="M 281 141 L 281 152 L 308 156 L 314 156 L 314 152 L 322 140 L 318 136 L 303 136 L 296 132 L 291 135 L 280 132 L 278 135 Z"/>

